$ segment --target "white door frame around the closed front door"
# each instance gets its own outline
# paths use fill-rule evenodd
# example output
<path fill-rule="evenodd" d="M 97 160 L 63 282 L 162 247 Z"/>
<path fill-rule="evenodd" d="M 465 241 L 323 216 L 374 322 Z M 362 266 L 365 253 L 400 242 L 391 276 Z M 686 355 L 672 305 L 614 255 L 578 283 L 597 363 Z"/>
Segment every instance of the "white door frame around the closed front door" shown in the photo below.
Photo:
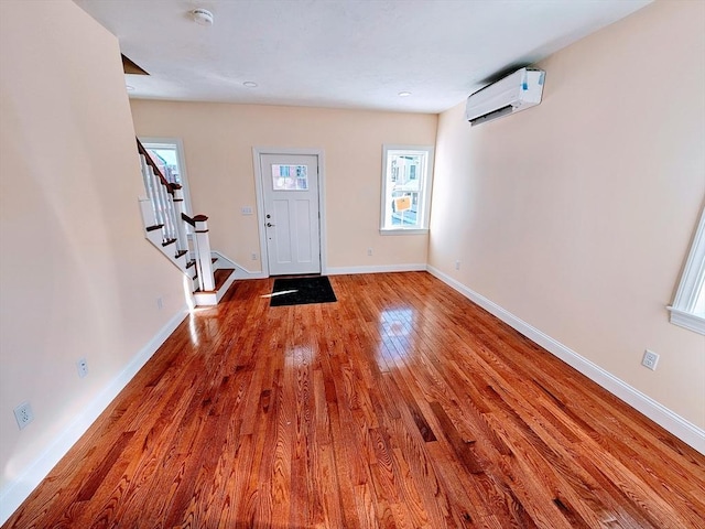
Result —
<path fill-rule="evenodd" d="M 321 246 L 321 274 L 328 272 L 328 252 L 326 236 L 326 187 L 325 187 L 325 156 L 323 149 L 293 149 L 283 147 L 253 147 L 252 166 L 254 168 L 254 191 L 257 192 L 257 229 L 260 234 L 260 262 L 262 273 L 269 278 L 269 252 L 267 250 L 267 233 L 264 230 L 264 190 L 262 188 L 262 155 L 263 154 L 304 154 L 316 156 L 318 160 L 318 245 Z"/>

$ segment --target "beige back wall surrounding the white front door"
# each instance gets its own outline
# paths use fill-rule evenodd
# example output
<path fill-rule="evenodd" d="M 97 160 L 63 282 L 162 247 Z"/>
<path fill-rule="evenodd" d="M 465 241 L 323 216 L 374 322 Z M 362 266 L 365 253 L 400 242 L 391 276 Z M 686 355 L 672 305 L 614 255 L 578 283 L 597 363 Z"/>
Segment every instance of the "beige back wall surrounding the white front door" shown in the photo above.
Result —
<path fill-rule="evenodd" d="M 184 143 L 194 213 L 209 217 L 212 246 L 250 271 L 261 270 L 253 147 L 325 152 L 328 267 L 426 262 L 427 236 L 380 236 L 382 144 L 433 145 L 436 115 L 256 105 L 132 100 L 143 137 Z M 372 248 L 372 256 L 367 249 Z"/>

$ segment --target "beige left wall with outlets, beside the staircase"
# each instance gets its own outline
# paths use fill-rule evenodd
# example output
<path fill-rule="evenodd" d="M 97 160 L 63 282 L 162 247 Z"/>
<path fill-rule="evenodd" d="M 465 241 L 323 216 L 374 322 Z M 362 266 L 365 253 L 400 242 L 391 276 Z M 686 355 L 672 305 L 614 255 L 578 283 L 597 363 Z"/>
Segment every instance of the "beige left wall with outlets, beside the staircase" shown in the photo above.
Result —
<path fill-rule="evenodd" d="M 3 0 L 0 71 L 4 493 L 184 298 L 180 272 L 141 228 L 143 191 L 117 40 L 68 0 Z M 84 379 L 75 365 L 82 357 Z M 34 422 L 19 431 L 12 410 L 25 400 Z"/>

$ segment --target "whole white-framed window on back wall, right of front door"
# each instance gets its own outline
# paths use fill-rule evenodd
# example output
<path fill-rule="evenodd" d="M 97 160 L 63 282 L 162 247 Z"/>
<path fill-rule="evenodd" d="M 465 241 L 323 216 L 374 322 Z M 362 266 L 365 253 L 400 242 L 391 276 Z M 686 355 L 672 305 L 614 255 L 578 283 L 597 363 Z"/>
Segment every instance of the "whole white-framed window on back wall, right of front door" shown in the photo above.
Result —
<path fill-rule="evenodd" d="M 382 234 L 429 230 L 433 147 L 384 145 Z"/>

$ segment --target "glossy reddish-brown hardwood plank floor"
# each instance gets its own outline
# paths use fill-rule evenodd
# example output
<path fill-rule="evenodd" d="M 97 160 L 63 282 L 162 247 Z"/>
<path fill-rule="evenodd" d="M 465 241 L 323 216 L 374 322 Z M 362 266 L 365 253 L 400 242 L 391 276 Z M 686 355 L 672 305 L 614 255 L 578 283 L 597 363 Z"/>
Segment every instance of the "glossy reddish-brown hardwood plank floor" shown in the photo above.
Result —
<path fill-rule="evenodd" d="M 4 527 L 705 528 L 705 457 L 425 272 L 236 283 Z"/>

